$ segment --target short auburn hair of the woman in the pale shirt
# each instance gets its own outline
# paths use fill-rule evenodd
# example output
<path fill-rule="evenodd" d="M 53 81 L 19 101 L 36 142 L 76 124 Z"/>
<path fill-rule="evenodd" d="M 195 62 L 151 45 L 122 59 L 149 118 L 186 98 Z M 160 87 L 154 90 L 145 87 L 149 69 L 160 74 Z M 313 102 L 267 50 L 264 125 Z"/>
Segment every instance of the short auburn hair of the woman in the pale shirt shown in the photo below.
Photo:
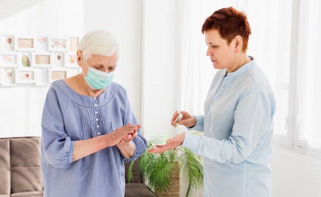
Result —
<path fill-rule="evenodd" d="M 241 36 L 243 38 L 242 51 L 246 52 L 251 28 L 244 12 L 239 12 L 232 7 L 216 10 L 204 21 L 202 33 L 214 29 L 218 30 L 220 36 L 227 40 L 228 44 L 235 36 Z"/>

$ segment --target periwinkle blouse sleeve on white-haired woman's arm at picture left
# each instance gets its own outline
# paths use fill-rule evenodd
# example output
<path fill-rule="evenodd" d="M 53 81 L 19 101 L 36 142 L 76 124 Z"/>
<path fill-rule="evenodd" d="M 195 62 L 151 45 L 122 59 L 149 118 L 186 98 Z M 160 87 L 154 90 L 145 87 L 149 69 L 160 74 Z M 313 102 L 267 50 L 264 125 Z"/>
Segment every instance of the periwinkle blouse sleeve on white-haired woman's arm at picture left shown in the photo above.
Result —
<path fill-rule="evenodd" d="M 66 104 L 66 103 L 65 103 Z M 63 168 L 72 162 L 74 141 L 67 136 L 61 105 L 53 87 L 45 101 L 42 118 L 42 149 L 48 163 Z"/>

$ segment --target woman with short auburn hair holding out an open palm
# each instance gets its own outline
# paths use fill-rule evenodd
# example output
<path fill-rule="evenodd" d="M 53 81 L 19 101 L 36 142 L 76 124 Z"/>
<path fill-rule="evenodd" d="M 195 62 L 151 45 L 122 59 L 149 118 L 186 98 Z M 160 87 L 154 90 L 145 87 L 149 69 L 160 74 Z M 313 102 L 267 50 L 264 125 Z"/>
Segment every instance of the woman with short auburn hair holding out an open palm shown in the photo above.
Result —
<path fill-rule="evenodd" d="M 181 112 L 179 124 L 204 132 L 204 137 L 178 134 L 149 152 L 182 145 L 204 156 L 204 196 L 271 196 L 275 99 L 269 80 L 246 54 L 251 34 L 247 17 L 231 7 L 220 9 L 205 20 L 202 32 L 206 55 L 219 70 L 204 103 L 204 116 Z"/>

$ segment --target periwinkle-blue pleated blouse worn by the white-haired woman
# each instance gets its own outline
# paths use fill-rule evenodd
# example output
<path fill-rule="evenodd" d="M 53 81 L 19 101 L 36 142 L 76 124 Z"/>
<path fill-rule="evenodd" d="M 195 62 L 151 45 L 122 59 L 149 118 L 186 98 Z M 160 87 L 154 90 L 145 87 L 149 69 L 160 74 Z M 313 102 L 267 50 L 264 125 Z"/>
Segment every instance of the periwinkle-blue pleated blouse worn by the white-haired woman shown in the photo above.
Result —
<path fill-rule="evenodd" d="M 137 124 L 137 120 L 121 85 L 112 82 L 94 99 L 75 93 L 63 80 L 53 82 L 42 119 L 44 197 L 124 196 L 124 161 L 135 160 L 147 148 L 140 129 L 130 159 L 116 146 L 74 162 L 72 158 L 74 141 L 106 135 L 128 123 Z"/>

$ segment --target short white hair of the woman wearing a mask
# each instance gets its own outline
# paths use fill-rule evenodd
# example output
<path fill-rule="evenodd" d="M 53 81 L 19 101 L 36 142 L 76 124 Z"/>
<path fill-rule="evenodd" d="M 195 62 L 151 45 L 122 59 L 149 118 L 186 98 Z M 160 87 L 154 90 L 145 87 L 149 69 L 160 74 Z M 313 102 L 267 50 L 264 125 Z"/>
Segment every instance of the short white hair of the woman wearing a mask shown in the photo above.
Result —
<path fill-rule="evenodd" d="M 79 43 L 78 50 L 82 51 L 85 59 L 92 54 L 111 56 L 118 55 L 119 45 L 116 38 L 104 30 L 88 32 Z"/>

